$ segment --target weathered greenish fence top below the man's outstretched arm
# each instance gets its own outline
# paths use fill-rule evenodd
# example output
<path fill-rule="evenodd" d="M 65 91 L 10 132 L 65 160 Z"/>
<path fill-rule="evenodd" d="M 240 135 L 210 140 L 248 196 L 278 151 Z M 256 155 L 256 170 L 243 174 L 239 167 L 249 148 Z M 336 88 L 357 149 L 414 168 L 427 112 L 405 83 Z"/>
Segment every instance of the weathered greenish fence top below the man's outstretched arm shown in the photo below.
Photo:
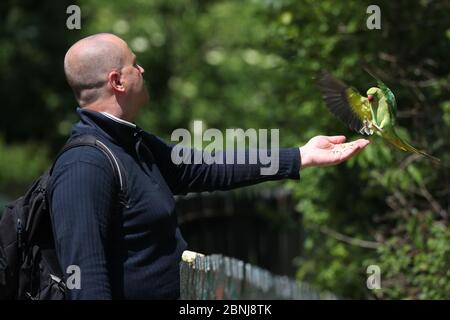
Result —
<path fill-rule="evenodd" d="M 222 256 L 204 256 L 185 251 L 180 270 L 180 297 L 183 300 L 247 299 L 337 299 L 310 285 Z"/>

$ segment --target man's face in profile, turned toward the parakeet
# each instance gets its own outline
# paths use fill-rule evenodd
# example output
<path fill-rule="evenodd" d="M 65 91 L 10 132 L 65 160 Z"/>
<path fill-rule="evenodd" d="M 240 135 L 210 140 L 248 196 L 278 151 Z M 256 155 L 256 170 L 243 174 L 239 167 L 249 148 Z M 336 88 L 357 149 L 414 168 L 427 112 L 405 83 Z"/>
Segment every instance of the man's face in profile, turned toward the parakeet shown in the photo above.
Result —
<path fill-rule="evenodd" d="M 121 73 L 128 100 L 131 106 L 138 110 L 148 102 L 149 95 L 144 82 L 144 68 L 137 64 L 136 55 L 128 46 Z"/>

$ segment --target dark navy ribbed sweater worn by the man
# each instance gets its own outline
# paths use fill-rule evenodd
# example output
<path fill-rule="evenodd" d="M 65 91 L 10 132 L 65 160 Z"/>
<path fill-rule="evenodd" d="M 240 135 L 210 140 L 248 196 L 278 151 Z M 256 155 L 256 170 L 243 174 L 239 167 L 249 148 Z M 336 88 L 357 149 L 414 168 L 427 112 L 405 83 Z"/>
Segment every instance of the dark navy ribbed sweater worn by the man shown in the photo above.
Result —
<path fill-rule="evenodd" d="M 49 203 L 59 262 L 81 270 L 81 288 L 69 299 L 176 299 L 180 234 L 173 195 L 228 190 L 267 180 L 299 178 L 298 148 L 280 149 L 279 171 L 260 164 L 180 164 L 172 145 L 102 113 L 78 109 L 71 138 L 95 135 L 126 170 L 128 206 L 116 210 L 118 184 L 101 151 L 78 147 L 56 162 Z M 192 151 L 195 152 L 195 151 Z"/>

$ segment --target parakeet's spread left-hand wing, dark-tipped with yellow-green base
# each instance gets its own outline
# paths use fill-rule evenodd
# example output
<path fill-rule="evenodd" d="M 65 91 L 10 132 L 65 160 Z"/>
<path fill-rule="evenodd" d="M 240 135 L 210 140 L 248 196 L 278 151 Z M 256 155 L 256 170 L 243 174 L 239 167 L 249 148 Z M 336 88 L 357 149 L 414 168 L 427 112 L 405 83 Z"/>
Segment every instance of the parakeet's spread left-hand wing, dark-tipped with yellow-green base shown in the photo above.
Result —
<path fill-rule="evenodd" d="M 350 129 L 362 133 L 363 121 L 372 120 L 369 104 L 363 102 L 366 98 L 327 71 L 322 72 L 318 86 L 328 109 Z"/>

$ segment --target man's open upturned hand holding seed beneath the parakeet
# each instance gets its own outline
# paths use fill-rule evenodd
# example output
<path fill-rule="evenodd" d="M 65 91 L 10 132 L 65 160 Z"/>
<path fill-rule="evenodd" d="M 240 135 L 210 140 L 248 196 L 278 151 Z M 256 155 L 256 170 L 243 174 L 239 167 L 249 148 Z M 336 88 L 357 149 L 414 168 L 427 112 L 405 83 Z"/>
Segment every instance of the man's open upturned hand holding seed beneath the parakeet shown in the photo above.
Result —
<path fill-rule="evenodd" d="M 301 167 L 329 166 L 341 163 L 370 143 L 358 139 L 345 143 L 345 136 L 316 136 L 300 147 Z"/>

